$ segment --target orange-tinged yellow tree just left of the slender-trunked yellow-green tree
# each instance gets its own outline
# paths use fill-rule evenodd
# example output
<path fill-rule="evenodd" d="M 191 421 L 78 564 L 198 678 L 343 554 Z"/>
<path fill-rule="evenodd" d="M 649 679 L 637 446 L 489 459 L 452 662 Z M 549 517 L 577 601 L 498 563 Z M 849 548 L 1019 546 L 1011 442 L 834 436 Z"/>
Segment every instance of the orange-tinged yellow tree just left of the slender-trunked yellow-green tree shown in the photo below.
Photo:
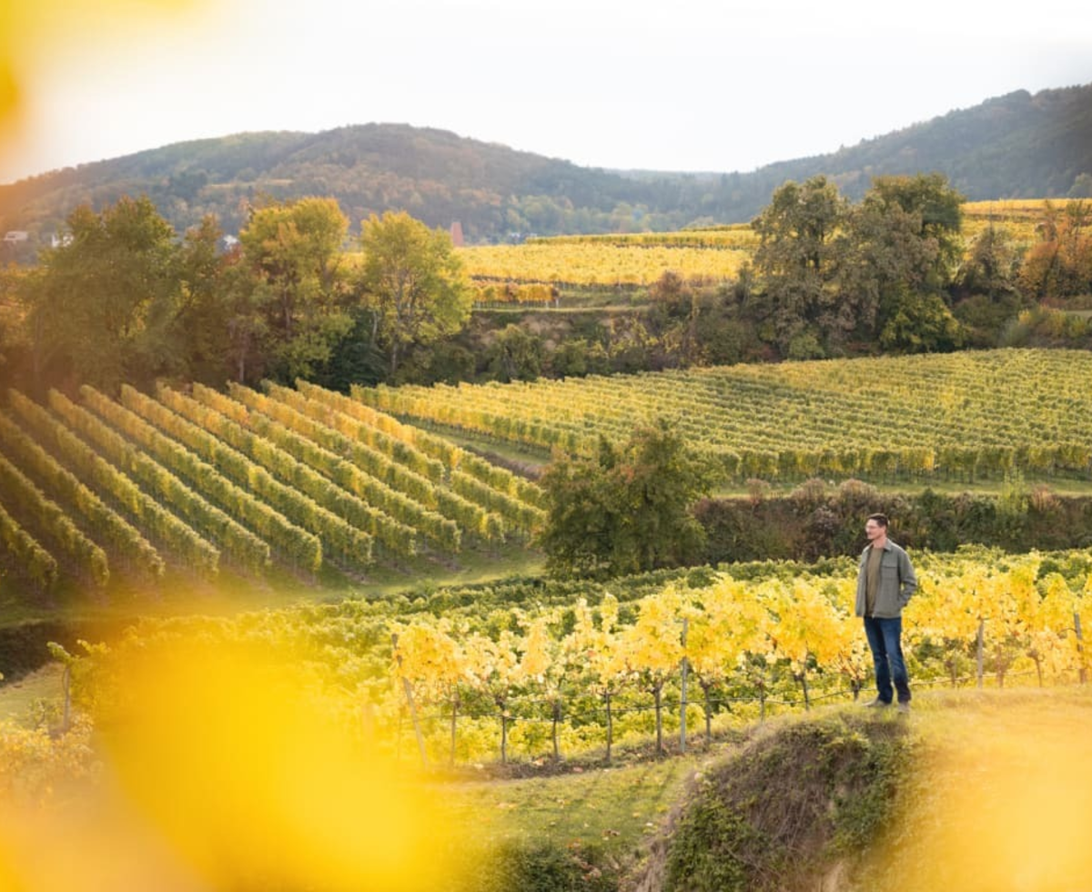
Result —
<path fill-rule="evenodd" d="M 310 377 L 353 328 L 341 267 L 347 231 L 334 199 L 308 198 L 253 211 L 239 233 L 252 282 L 237 302 L 248 309 L 248 331 L 262 330 L 268 361 L 283 380 Z M 254 307 L 260 326 L 251 324 Z"/>

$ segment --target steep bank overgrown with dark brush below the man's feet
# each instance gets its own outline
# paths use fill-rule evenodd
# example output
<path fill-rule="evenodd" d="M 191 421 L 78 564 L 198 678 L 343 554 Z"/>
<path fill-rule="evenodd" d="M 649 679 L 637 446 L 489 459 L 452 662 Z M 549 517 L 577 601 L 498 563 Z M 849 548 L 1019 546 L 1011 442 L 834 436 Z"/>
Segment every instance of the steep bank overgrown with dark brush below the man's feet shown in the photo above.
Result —
<path fill-rule="evenodd" d="M 889 821 L 911 746 L 905 723 L 841 714 L 759 737 L 695 782 L 633 888 L 792 892 L 844 879 Z"/>

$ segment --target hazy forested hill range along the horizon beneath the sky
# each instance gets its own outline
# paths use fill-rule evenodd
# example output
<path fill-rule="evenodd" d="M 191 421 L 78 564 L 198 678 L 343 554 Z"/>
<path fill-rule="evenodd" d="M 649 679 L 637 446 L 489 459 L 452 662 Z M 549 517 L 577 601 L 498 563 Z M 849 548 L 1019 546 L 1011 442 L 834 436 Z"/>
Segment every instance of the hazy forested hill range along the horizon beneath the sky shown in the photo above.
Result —
<path fill-rule="evenodd" d="M 755 122 L 761 126 L 761 122 Z M 333 195 L 354 228 L 406 210 L 468 241 L 513 233 L 674 229 L 750 219 L 786 179 L 859 198 L 877 174 L 940 171 L 971 200 L 1092 194 L 1092 85 L 1017 92 L 853 147 L 751 173 L 608 171 L 441 130 L 363 124 L 176 143 L 0 186 L 0 230 L 56 231 L 80 203 L 147 194 L 179 231 L 215 213 L 236 231 L 264 197 Z"/>

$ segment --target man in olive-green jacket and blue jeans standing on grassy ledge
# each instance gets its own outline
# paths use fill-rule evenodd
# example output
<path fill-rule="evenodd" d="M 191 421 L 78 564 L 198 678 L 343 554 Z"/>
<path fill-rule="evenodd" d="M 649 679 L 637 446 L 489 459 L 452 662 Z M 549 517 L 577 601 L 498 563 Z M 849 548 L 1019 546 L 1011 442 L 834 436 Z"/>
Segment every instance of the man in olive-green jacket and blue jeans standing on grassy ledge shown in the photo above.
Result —
<path fill-rule="evenodd" d="M 899 711 L 910 712 L 910 676 L 902 655 L 902 608 L 917 588 L 917 576 L 906 552 L 887 537 L 886 514 L 871 514 L 865 523 L 868 545 L 857 572 L 858 617 L 876 664 L 877 697 L 868 706 L 890 706 L 899 693 Z M 893 683 L 893 689 L 892 689 Z"/>

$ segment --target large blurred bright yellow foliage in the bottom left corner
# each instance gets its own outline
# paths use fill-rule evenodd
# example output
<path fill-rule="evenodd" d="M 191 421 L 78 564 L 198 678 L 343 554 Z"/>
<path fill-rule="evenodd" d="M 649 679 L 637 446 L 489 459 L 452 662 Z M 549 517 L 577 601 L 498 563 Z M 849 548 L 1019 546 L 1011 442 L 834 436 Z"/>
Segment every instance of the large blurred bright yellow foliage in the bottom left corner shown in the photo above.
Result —
<path fill-rule="evenodd" d="M 222 642 L 150 646 L 97 734 L 103 781 L 0 809 L 0 885 L 425 890 L 446 881 L 424 787 L 293 666 Z"/>

